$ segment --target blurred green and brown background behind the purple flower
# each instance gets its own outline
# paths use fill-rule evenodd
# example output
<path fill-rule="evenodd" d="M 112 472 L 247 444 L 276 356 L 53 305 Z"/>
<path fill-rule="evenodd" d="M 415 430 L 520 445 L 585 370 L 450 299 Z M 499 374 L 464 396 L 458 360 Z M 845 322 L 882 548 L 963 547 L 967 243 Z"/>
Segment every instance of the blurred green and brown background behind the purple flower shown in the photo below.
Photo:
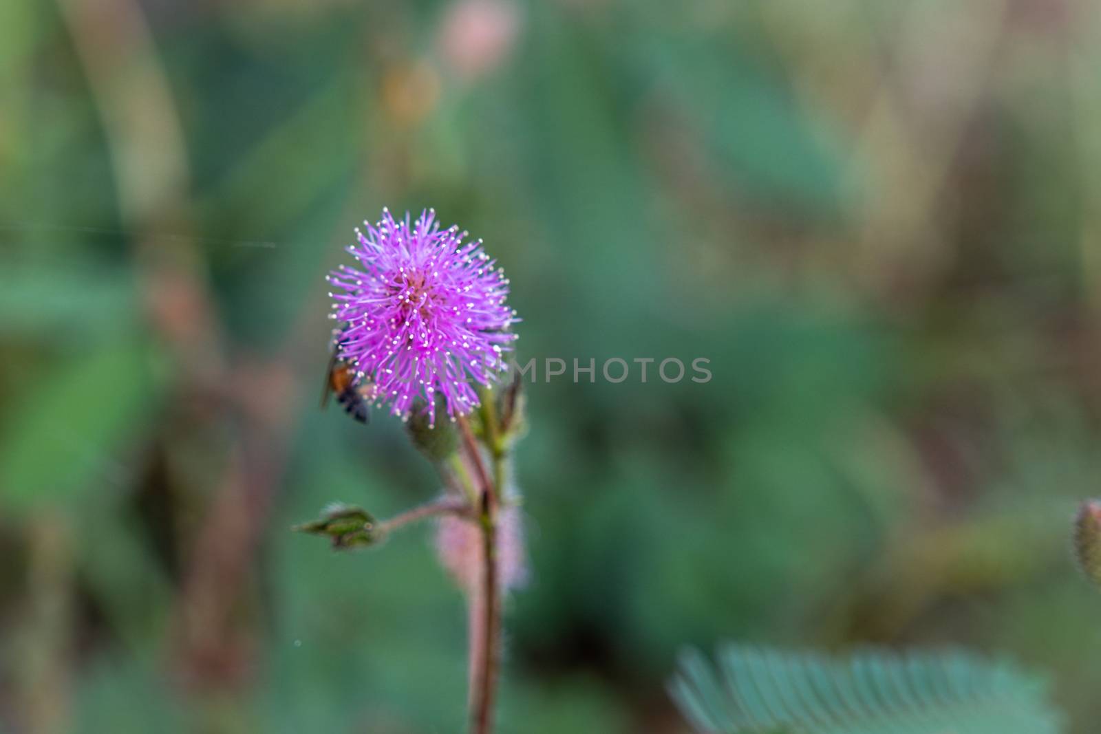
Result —
<path fill-rule="evenodd" d="M 433 206 L 532 385 L 500 732 L 686 732 L 685 644 L 964 645 L 1094 731 L 1089 0 L 0 2 L 0 731 L 450 733 L 464 604 L 323 277 Z"/>

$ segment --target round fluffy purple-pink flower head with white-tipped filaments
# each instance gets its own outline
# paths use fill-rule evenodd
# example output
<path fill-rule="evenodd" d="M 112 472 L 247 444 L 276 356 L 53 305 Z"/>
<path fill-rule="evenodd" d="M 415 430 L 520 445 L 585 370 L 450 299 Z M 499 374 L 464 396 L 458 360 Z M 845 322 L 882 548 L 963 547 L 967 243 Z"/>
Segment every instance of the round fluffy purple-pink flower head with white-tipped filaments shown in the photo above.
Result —
<path fill-rule="evenodd" d="M 448 415 L 478 406 L 475 385 L 491 385 L 517 321 L 505 305 L 509 281 L 458 227 L 440 230 L 429 209 L 415 222 L 383 209 L 375 224 L 356 230 L 348 252 L 357 266 L 327 277 L 335 286 L 333 318 L 338 357 L 391 413 L 408 418 L 423 398 L 435 420 L 436 396 Z"/>

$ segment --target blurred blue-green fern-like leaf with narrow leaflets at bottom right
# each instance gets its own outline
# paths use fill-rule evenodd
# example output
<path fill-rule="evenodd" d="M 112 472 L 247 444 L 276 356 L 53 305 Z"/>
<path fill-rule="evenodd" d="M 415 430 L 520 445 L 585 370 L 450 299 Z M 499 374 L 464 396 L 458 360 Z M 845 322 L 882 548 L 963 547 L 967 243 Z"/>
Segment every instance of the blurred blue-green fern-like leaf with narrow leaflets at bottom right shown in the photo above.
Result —
<path fill-rule="evenodd" d="M 1046 686 L 1005 664 L 951 653 L 844 658 L 740 645 L 716 670 L 686 650 L 669 683 L 701 734 L 1056 734 Z"/>

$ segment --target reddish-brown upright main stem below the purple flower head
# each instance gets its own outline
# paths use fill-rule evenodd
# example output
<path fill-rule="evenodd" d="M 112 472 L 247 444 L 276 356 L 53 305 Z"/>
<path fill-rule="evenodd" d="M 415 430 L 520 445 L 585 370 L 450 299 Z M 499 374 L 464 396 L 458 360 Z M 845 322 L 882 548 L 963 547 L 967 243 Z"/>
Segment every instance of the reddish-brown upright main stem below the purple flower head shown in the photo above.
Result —
<path fill-rule="evenodd" d="M 471 602 L 472 612 L 480 612 L 481 617 L 473 620 L 480 625 L 478 634 L 471 634 L 471 680 L 470 680 L 470 715 L 473 734 L 490 734 L 493 730 L 493 697 L 497 688 L 498 648 L 501 637 L 501 593 L 498 589 L 497 563 L 497 505 L 498 496 L 486 464 L 482 461 L 478 443 L 475 441 L 470 425 L 462 416 L 458 418 L 459 430 L 469 459 L 478 474 L 481 487 L 479 525 L 482 530 L 482 583 L 475 591 L 481 599 L 480 604 Z M 473 631 L 472 631 L 473 632 Z M 480 649 L 477 649 L 480 646 Z"/>

